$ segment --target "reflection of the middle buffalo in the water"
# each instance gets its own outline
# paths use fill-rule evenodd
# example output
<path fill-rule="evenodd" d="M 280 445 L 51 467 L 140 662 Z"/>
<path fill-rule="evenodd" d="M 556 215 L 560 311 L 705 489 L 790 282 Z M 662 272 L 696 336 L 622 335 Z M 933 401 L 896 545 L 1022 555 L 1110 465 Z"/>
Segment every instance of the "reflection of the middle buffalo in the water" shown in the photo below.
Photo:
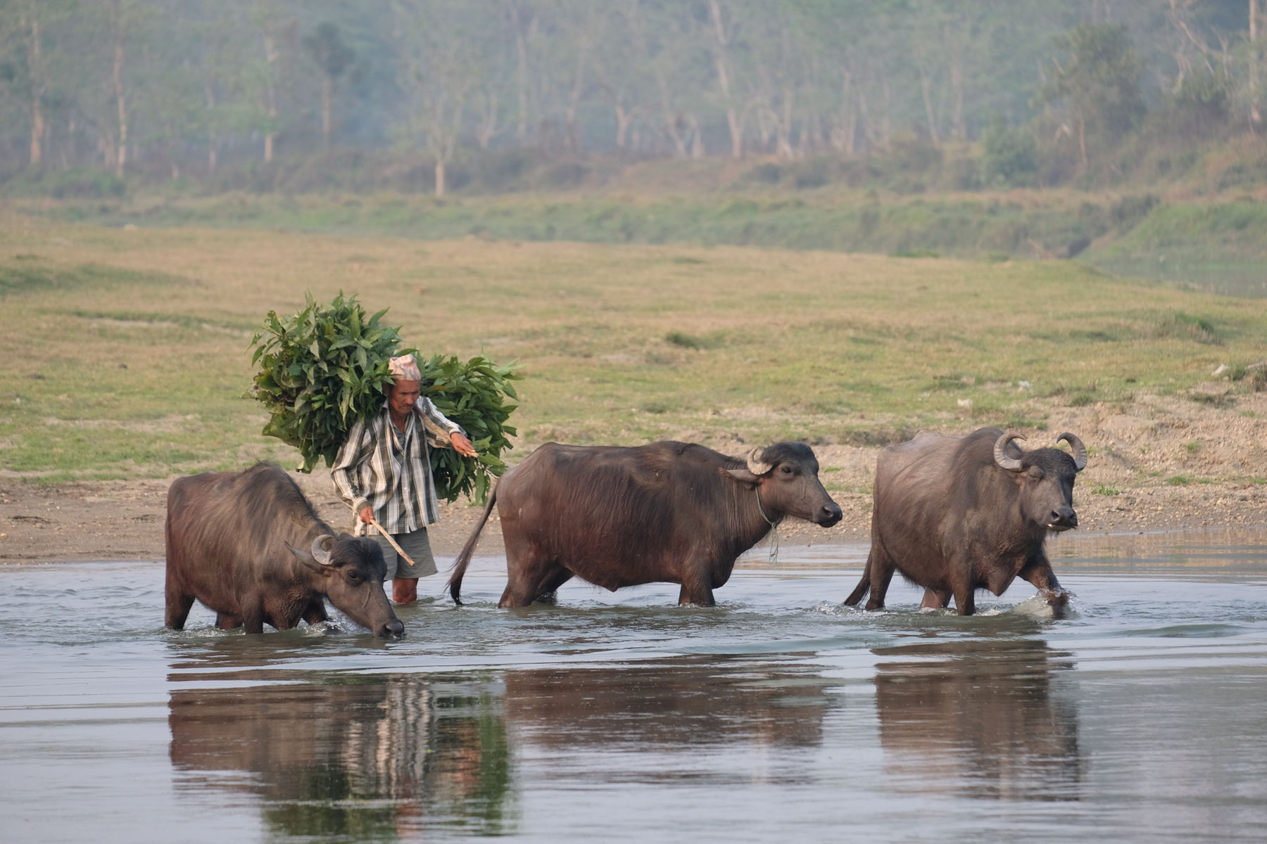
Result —
<path fill-rule="evenodd" d="M 749 742 L 815 747 L 837 685 L 821 668 L 680 657 L 602 668 L 506 673 L 506 717 L 550 745 L 677 747 Z"/>

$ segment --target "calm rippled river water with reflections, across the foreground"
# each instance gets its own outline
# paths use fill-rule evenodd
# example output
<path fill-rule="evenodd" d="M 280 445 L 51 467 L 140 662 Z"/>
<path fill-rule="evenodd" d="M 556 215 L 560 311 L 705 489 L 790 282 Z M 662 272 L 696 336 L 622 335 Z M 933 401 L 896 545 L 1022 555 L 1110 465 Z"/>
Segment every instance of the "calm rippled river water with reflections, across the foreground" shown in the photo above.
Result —
<path fill-rule="evenodd" d="M 1062 620 L 1022 582 L 845 609 L 837 545 L 707 610 L 498 610 L 476 558 L 393 642 L 165 630 L 161 562 L 8 567 L 0 839 L 1267 840 L 1267 531 L 1049 548 Z"/>

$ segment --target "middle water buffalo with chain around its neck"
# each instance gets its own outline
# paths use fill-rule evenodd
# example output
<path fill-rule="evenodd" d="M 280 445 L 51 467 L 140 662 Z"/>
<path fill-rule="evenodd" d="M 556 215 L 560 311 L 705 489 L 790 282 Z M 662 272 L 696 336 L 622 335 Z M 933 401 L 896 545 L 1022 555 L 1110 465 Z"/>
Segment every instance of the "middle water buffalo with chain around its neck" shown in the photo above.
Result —
<path fill-rule="evenodd" d="M 689 443 L 637 448 L 546 443 L 498 481 L 449 578 L 462 576 L 493 505 L 508 582 L 498 606 L 547 599 L 573 576 L 616 591 L 680 583 L 679 604 L 712 606 L 735 558 L 783 516 L 825 528 L 840 507 L 805 443 L 754 448 L 746 458 Z"/>

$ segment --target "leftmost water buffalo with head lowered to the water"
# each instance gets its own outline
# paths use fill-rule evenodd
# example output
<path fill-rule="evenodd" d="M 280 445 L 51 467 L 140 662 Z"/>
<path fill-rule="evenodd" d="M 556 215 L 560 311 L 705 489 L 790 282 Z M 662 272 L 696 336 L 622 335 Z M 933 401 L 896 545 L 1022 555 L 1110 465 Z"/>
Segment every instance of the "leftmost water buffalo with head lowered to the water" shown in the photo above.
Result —
<path fill-rule="evenodd" d="M 167 490 L 167 615 L 180 630 L 195 600 L 217 626 L 264 633 L 326 620 L 326 604 L 374 631 L 399 635 L 383 591 L 386 563 L 372 539 L 340 534 L 317 518 L 274 463 L 177 478 Z"/>

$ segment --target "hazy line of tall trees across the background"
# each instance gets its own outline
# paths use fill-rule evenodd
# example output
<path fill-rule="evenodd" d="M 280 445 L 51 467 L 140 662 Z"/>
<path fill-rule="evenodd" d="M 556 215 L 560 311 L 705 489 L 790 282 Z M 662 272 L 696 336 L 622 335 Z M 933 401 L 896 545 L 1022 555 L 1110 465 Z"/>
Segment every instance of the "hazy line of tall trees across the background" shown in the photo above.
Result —
<path fill-rule="evenodd" d="M 443 194 L 455 159 L 508 147 L 791 161 L 979 140 L 987 181 L 1060 181 L 1149 114 L 1261 132 L 1259 6 L 0 0 L 0 176 L 352 147 L 426 158 Z"/>

